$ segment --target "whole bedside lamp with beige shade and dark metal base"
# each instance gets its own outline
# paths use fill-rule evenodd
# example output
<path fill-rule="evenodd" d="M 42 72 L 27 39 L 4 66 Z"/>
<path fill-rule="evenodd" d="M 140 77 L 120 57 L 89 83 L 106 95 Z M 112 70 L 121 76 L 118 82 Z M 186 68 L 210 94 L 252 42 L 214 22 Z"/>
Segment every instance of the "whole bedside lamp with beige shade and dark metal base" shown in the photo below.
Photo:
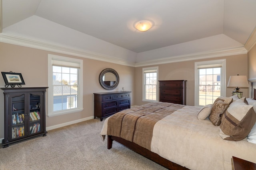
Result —
<path fill-rule="evenodd" d="M 236 88 L 232 92 L 233 96 L 237 94 L 238 98 L 242 98 L 243 92 L 239 90 L 239 88 L 248 88 L 248 80 L 246 76 L 230 76 L 229 81 L 228 81 L 228 87 Z M 239 87 L 239 88 L 238 88 Z"/>

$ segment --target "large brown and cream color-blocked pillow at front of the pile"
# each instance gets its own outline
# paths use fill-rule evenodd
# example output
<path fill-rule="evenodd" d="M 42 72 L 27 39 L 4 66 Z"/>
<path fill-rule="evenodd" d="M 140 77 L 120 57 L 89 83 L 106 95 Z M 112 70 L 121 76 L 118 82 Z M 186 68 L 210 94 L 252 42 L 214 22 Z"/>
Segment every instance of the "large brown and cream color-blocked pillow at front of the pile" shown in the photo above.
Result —
<path fill-rule="evenodd" d="M 230 104 L 221 119 L 220 136 L 228 141 L 240 141 L 251 131 L 256 122 L 253 106 L 239 99 Z"/>

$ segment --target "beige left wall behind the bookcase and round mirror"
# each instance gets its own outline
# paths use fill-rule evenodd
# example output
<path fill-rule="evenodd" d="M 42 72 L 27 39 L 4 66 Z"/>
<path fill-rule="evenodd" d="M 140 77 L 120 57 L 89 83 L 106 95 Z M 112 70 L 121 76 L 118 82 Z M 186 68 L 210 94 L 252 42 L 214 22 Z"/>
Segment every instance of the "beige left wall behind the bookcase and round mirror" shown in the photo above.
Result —
<path fill-rule="evenodd" d="M 25 85 L 22 87 L 48 86 L 48 54 L 60 55 L 82 59 L 83 62 L 83 107 L 84 110 L 78 113 L 48 117 L 46 116 L 46 127 L 92 117 L 94 115 L 94 95 L 95 92 L 121 91 L 122 87 L 127 91 L 132 91 L 131 105 L 134 105 L 134 67 L 120 64 L 107 63 L 74 57 L 60 53 L 0 43 L 0 70 L 1 72 L 22 73 Z M 100 86 L 99 75 L 105 68 L 113 68 L 120 77 L 119 85 L 114 90 L 105 90 Z M 4 79 L 0 78 L 0 86 L 4 87 Z M 0 90 L 2 91 L 2 90 Z M 2 91 L 3 92 L 3 91 Z M 0 93 L 2 93 L 0 92 Z M 47 97 L 47 93 L 46 93 Z M 47 103 L 47 98 L 46 98 Z M 47 109 L 46 109 L 47 111 Z M 46 113 L 47 115 L 47 113 Z M 4 96 L 0 97 L 0 139 L 4 138 Z"/>

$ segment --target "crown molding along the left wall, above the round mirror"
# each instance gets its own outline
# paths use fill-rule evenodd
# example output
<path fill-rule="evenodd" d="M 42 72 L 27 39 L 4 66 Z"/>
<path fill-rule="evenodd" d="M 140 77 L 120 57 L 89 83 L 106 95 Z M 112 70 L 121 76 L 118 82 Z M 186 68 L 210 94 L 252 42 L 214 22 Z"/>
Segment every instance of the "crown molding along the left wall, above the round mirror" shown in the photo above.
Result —
<path fill-rule="evenodd" d="M 56 53 L 66 54 L 66 55 L 73 55 L 77 57 L 83 57 L 83 58 L 93 59 L 98 61 L 105 61 L 108 63 L 115 63 L 115 64 L 121 64 L 121 65 L 132 66 L 132 67 L 135 66 L 135 63 L 120 60 L 107 55 L 101 55 L 101 54 L 97 54 L 89 51 L 81 51 L 81 50 L 70 49 L 66 47 L 60 47 L 57 45 L 42 43 L 39 41 L 16 37 L 16 36 L 4 34 L 4 33 L 0 33 L 0 42 L 20 45 L 20 46 L 30 47 L 35 49 L 41 49 L 46 51 L 52 51 Z"/>

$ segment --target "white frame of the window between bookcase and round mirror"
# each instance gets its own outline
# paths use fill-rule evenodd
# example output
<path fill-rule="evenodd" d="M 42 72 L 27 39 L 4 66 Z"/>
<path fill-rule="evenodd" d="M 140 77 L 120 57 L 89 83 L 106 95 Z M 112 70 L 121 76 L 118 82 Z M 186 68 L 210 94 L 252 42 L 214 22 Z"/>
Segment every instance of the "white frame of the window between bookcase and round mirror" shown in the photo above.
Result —
<path fill-rule="evenodd" d="M 79 64 L 80 68 L 78 71 L 78 107 L 72 109 L 65 109 L 61 111 L 53 111 L 53 79 L 52 79 L 52 60 L 59 60 L 68 62 L 70 64 Z M 70 66 L 68 66 L 70 67 Z M 58 55 L 48 54 L 48 117 L 64 115 L 68 113 L 75 113 L 83 110 L 83 60 L 74 59 L 70 57 L 63 57 Z"/>

